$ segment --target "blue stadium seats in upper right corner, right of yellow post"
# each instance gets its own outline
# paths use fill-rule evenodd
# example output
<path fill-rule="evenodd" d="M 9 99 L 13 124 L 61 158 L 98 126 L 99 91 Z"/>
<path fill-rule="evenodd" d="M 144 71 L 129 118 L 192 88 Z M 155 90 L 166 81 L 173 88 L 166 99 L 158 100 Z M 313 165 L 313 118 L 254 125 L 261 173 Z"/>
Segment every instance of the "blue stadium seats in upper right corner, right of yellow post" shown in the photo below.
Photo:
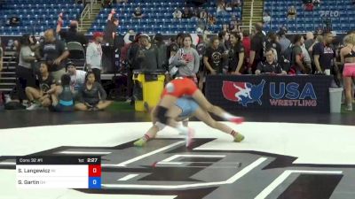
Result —
<path fill-rule="evenodd" d="M 288 19 L 288 8 L 296 8 L 296 19 Z M 314 32 L 319 27 L 325 27 L 325 20 L 331 19 L 332 28 L 338 33 L 355 29 L 355 6 L 351 0 L 321 0 L 319 7 L 313 11 L 304 11 L 301 0 L 265 0 L 264 12 L 271 16 L 271 23 L 264 26 L 265 31 L 277 31 L 281 26 L 287 26 L 290 33 Z"/>

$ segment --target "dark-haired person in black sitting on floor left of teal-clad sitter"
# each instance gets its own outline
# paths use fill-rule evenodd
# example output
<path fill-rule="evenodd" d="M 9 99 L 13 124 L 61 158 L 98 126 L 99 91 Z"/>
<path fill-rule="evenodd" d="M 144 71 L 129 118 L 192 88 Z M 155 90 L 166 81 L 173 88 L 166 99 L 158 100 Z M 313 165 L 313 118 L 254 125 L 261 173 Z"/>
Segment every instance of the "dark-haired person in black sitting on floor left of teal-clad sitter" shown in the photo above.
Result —
<path fill-rule="evenodd" d="M 28 96 L 30 104 L 27 108 L 28 111 L 36 110 L 39 106 L 49 107 L 51 105 L 51 99 L 47 92 L 55 87 L 55 80 L 48 72 L 48 65 L 46 63 L 41 63 L 39 72 L 39 88 L 26 88 L 26 96 Z"/>

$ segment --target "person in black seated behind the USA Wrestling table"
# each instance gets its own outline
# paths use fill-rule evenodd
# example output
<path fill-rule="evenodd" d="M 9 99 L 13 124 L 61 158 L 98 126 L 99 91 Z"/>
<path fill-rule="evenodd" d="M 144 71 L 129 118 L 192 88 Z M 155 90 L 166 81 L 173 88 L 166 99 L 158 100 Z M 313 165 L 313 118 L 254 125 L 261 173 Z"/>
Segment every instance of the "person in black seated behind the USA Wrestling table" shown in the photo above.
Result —
<path fill-rule="evenodd" d="M 281 65 L 276 61 L 276 56 L 273 49 L 265 50 L 266 61 L 259 62 L 256 66 L 256 75 L 263 73 L 272 74 L 287 74 L 286 71 L 282 70 Z"/>

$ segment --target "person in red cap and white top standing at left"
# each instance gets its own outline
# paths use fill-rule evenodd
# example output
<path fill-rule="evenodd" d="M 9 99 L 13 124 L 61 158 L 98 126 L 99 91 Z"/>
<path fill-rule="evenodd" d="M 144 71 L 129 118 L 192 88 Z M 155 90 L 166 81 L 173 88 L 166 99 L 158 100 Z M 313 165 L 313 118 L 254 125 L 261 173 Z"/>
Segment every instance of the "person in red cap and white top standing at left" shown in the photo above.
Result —
<path fill-rule="evenodd" d="M 95 74 L 95 80 L 101 81 L 102 71 L 102 49 L 101 42 L 103 41 L 102 33 L 95 32 L 93 34 L 93 41 L 89 43 L 86 49 L 86 64 L 89 71 Z"/>

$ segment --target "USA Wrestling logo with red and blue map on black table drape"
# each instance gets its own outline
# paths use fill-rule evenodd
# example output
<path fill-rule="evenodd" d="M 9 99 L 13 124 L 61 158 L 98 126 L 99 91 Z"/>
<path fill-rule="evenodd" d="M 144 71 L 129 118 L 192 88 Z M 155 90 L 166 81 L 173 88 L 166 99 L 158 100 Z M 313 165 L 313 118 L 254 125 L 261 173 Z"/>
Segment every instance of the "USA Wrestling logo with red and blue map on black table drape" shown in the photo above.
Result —
<path fill-rule="evenodd" d="M 244 107 L 247 107 L 248 103 L 262 105 L 265 83 L 265 80 L 262 80 L 259 84 L 225 80 L 222 87 L 223 96 L 225 99 Z M 317 96 L 312 83 L 309 82 L 304 87 L 296 82 L 271 82 L 269 84 L 268 103 L 271 106 L 313 107 L 317 106 Z"/>

